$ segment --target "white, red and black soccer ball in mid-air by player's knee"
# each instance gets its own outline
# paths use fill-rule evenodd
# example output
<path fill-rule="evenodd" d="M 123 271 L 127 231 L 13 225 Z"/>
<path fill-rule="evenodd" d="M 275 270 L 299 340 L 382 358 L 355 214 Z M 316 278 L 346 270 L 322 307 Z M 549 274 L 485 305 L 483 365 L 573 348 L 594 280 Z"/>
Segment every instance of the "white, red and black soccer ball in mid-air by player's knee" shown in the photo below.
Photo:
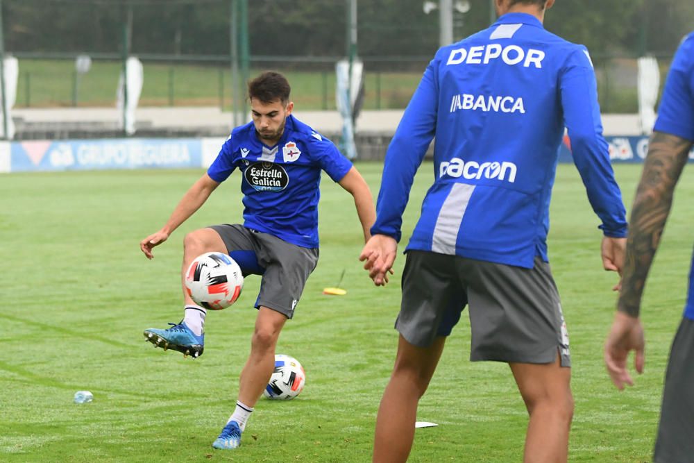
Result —
<path fill-rule="evenodd" d="M 222 310 L 236 302 L 244 287 L 241 267 L 224 253 L 198 255 L 185 272 L 185 287 L 196 304 Z"/>

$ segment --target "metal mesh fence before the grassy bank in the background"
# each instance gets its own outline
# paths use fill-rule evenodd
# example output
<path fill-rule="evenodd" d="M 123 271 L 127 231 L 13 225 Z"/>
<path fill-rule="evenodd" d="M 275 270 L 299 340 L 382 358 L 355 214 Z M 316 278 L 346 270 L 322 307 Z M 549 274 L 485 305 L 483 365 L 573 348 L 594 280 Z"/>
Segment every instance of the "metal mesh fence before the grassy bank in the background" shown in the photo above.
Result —
<path fill-rule="evenodd" d="M 75 56 L 18 53 L 16 108 L 109 107 L 122 63 L 116 56 L 92 56 L 79 74 Z M 252 74 L 275 69 L 287 75 L 292 99 L 305 110 L 335 110 L 335 62 L 341 57 L 256 56 Z M 661 87 L 671 56 L 658 56 Z M 224 56 L 141 56 L 144 85 L 139 106 L 218 106 L 232 108 L 231 69 Z M 364 57 L 365 110 L 407 106 L 430 57 Z M 593 56 L 602 112 L 638 112 L 636 58 Z"/>

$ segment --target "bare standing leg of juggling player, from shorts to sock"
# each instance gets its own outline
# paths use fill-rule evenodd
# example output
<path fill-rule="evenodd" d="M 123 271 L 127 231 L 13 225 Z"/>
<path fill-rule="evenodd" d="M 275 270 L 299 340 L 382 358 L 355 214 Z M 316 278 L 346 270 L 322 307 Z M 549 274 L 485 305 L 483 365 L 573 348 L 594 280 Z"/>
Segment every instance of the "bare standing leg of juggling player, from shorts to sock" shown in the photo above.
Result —
<path fill-rule="evenodd" d="M 253 407 L 265 390 L 275 369 L 275 346 L 287 316 L 260 307 L 251 338 L 251 355 L 239 378 L 239 402 Z"/>

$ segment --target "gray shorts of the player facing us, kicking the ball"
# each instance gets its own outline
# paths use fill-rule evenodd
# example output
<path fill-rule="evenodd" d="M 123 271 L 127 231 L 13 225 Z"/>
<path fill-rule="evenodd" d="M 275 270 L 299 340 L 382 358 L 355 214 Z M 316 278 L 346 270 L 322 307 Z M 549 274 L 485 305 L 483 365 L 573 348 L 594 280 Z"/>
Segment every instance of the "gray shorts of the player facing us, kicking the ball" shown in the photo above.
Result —
<path fill-rule="evenodd" d="M 244 276 L 262 275 L 255 308 L 263 305 L 291 319 L 306 280 L 318 264 L 318 248 L 296 246 L 239 224 L 209 228 L 219 233 L 227 253 L 237 261 Z"/>

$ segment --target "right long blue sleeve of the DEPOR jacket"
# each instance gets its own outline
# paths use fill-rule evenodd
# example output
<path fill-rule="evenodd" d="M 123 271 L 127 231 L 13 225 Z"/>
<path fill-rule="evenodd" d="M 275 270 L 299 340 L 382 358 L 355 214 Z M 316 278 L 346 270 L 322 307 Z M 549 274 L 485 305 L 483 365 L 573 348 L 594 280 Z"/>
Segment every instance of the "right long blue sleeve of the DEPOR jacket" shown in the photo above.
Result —
<path fill-rule="evenodd" d="M 595 72 L 586 49 L 577 49 L 570 55 L 560 79 L 564 124 L 573 161 L 593 211 L 602 221 L 599 228 L 606 236 L 625 237 L 626 212 L 610 164 L 609 148 L 602 137 Z"/>

